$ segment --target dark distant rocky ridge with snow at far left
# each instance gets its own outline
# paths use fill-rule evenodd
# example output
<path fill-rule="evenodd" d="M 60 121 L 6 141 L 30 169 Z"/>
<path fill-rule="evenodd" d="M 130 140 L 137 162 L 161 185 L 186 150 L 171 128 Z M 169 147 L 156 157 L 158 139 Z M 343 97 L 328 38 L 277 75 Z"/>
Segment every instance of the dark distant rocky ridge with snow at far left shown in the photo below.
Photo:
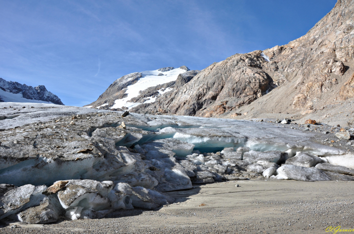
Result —
<path fill-rule="evenodd" d="M 31 102 L 31 100 L 37 100 L 44 102 L 52 102 L 58 105 L 64 105 L 57 95 L 54 95 L 53 93 L 49 92 L 47 88 L 43 85 L 33 88 L 32 86 L 22 85 L 17 82 L 6 81 L 0 78 L 0 89 L 1 91 L 3 91 L 0 94 L 0 102 Z M 14 96 L 9 98 L 11 94 L 22 94 L 22 97 L 20 97 L 20 95 L 17 95 L 18 97 Z"/>

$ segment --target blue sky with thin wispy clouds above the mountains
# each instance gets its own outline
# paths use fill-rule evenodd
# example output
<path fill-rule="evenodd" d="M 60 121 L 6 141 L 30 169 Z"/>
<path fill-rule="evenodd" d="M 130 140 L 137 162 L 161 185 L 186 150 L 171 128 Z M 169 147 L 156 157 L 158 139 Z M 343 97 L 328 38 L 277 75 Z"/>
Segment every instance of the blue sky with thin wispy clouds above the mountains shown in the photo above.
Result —
<path fill-rule="evenodd" d="M 45 85 L 66 105 L 133 72 L 202 70 L 288 44 L 336 0 L 0 0 L 0 77 Z"/>

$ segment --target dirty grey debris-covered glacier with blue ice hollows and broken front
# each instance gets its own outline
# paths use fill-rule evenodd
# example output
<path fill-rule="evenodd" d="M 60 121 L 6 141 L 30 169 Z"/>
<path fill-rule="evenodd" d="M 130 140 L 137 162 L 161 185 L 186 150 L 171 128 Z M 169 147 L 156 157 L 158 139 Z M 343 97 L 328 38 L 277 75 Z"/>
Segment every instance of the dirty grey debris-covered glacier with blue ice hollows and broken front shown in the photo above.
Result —
<path fill-rule="evenodd" d="M 47 223 L 154 209 L 174 202 L 164 192 L 193 183 L 354 180 L 352 152 L 282 124 L 11 105 L 0 103 L 1 219 Z"/>

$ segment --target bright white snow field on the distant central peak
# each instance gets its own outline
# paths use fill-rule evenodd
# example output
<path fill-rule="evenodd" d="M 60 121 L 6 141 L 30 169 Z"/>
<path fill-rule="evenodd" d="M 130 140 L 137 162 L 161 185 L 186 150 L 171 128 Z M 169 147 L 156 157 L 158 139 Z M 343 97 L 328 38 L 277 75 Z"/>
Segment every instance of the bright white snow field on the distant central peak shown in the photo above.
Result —
<path fill-rule="evenodd" d="M 135 98 L 139 96 L 139 91 L 143 91 L 146 88 L 157 86 L 157 85 L 162 85 L 171 81 L 177 80 L 177 77 L 180 73 L 185 73 L 186 70 L 180 69 L 180 68 L 175 68 L 173 70 L 167 71 L 167 72 L 161 72 L 158 70 L 154 71 L 145 71 L 142 72 L 142 77 L 138 80 L 133 85 L 130 85 L 126 91 L 126 94 L 128 96 L 123 99 L 117 99 L 114 102 L 114 105 L 111 108 L 122 108 L 123 106 L 131 109 L 135 106 L 138 106 L 142 103 L 134 103 L 134 102 L 128 102 L 130 99 Z M 162 73 L 163 75 L 158 75 Z M 166 88 L 164 91 L 160 91 L 160 94 L 163 94 L 165 92 L 170 91 L 171 89 Z M 150 103 L 150 102 L 155 102 L 156 98 L 151 98 L 150 100 L 145 101 L 145 103 Z M 97 107 L 99 108 L 99 107 Z"/>

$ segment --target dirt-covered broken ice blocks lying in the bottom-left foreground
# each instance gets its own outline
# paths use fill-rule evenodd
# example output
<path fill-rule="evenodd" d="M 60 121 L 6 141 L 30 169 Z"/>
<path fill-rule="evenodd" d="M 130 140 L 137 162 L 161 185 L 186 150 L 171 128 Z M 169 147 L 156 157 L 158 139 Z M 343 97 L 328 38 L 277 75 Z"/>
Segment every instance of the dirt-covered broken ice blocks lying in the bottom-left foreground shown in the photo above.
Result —
<path fill-rule="evenodd" d="M 60 214 L 75 219 L 97 219 L 117 209 L 155 209 L 174 199 L 144 187 L 113 181 L 69 180 L 56 194 L 44 195 L 46 186 L 25 185 L 1 197 L 1 219 L 19 212 L 16 218 L 27 223 L 48 223 Z M 12 207 L 7 206 L 12 204 Z"/>

